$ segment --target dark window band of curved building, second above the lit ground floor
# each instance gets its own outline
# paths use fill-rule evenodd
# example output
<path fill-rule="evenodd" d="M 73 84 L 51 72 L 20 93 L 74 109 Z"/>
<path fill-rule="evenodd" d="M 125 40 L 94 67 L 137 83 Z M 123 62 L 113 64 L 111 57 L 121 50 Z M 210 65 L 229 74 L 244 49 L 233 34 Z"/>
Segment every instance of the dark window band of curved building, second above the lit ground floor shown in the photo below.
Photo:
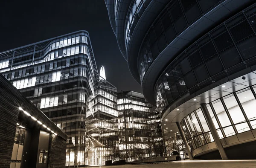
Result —
<path fill-rule="evenodd" d="M 156 20 L 154 20 L 154 23 L 148 30 L 147 35 L 145 35 L 144 41 L 141 45 L 137 58 L 137 68 L 140 75 L 140 81 L 143 81 L 144 75 L 152 62 L 169 43 L 171 43 L 178 35 L 180 35 L 180 33 L 183 32 L 183 30 L 192 25 L 196 20 L 201 18 L 215 6 L 219 5 L 221 1 L 222 0 L 171 0 Z M 140 10 L 141 9 L 137 9 L 138 12 Z M 132 10 L 131 14 L 133 14 Z M 129 19 L 130 15 L 127 16 Z M 136 15 L 138 15 L 137 12 L 135 16 Z M 134 20 L 136 20 L 136 18 L 137 17 L 134 17 Z M 125 30 L 125 33 L 128 32 L 126 33 L 126 43 L 129 41 L 129 35 L 131 36 L 132 30 L 134 29 L 132 29 L 134 23 L 131 24 L 129 19 Z M 127 29 L 129 28 L 129 25 L 131 28 Z"/>

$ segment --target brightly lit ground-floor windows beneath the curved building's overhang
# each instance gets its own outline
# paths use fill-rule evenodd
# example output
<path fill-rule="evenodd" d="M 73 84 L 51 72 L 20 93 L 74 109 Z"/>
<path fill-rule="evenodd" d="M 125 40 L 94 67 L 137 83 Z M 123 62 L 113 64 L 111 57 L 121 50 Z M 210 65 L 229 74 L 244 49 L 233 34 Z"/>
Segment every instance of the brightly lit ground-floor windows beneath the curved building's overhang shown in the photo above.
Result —
<path fill-rule="evenodd" d="M 256 85 L 207 104 L 220 139 L 256 128 L 255 90 Z M 201 108 L 186 116 L 180 125 L 191 151 L 214 141 Z"/>

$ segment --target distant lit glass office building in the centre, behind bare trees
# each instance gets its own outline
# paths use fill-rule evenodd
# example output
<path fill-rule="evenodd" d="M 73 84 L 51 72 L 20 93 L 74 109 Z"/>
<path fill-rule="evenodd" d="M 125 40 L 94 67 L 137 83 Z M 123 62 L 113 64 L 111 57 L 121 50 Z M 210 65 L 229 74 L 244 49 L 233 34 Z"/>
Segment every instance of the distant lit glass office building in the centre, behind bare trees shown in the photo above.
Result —
<path fill-rule="evenodd" d="M 120 158 L 132 162 L 163 156 L 160 115 L 142 93 L 118 93 L 118 131 Z"/>

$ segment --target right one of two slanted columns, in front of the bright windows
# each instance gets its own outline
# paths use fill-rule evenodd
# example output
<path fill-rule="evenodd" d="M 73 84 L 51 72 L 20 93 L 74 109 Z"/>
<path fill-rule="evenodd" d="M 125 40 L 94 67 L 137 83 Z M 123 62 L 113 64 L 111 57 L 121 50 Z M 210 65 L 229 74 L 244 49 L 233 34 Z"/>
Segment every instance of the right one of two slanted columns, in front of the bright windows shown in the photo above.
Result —
<path fill-rule="evenodd" d="M 214 124 L 212 122 L 212 118 L 210 116 L 210 113 L 209 113 L 205 103 L 201 104 L 201 109 L 202 109 L 202 111 L 204 113 L 204 117 L 205 117 L 205 119 L 206 119 L 206 121 L 208 123 L 209 129 L 210 129 L 210 131 L 212 133 L 212 137 L 213 137 L 213 139 L 215 141 L 215 144 L 216 144 L 216 146 L 218 148 L 218 151 L 221 154 L 221 158 L 223 160 L 227 160 L 228 159 L 227 158 L 227 154 L 224 151 L 224 148 L 223 148 L 223 146 L 221 144 L 221 139 L 218 136 L 217 130 L 216 130 L 216 128 L 215 128 L 215 126 L 214 126 Z"/>

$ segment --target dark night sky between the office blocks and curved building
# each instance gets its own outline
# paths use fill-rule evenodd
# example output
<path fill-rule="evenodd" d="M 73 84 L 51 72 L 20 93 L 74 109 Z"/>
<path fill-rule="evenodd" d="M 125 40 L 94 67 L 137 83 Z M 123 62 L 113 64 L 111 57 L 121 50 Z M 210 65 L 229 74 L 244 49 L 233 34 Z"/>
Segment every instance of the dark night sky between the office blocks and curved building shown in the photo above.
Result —
<path fill-rule="evenodd" d="M 119 51 L 104 0 L 1 0 L 0 52 L 87 30 L 99 70 L 120 90 L 141 92 Z"/>

